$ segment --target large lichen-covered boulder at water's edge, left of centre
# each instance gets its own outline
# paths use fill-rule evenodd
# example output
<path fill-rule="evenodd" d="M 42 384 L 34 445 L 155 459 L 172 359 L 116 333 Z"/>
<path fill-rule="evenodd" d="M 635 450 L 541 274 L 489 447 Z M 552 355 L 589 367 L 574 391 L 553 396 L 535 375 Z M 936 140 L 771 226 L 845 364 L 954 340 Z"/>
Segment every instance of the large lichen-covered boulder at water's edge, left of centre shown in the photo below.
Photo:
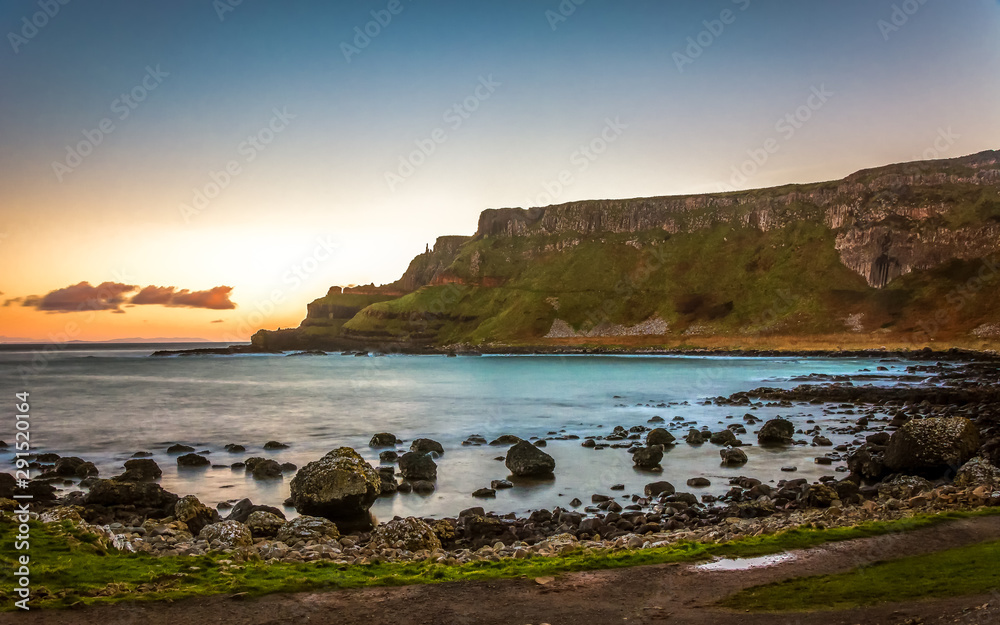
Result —
<path fill-rule="evenodd" d="M 360 521 L 379 495 L 378 472 L 350 447 L 341 447 L 302 467 L 291 481 L 299 514 Z"/>

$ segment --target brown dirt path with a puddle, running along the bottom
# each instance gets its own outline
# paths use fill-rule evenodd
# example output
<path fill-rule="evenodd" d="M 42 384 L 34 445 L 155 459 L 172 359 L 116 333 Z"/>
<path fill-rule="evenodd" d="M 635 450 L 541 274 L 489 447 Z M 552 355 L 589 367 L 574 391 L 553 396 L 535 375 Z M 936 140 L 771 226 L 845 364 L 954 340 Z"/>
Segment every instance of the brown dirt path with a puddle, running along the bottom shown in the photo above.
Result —
<path fill-rule="evenodd" d="M 657 565 L 570 573 L 542 585 L 530 579 L 449 583 L 402 588 L 227 596 L 177 603 L 122 604 L 70 611 L 0 615 L 0 623 L 52 625 L 451 625 L 480 623 L 997 623 L 1000 595 L 886 604 L 815 614 L 746 614 L 712 607 L 748 586 L 791 577 L 846 571 L 883 559 L 929 553 L 1000 539 L 1000 517 L 955 521 L 904 534 L 834 543 L 796 552 L 793 560 L 749 571 L 704 571 Z M 984 607 L 984 604 L 989 604 Z"/>

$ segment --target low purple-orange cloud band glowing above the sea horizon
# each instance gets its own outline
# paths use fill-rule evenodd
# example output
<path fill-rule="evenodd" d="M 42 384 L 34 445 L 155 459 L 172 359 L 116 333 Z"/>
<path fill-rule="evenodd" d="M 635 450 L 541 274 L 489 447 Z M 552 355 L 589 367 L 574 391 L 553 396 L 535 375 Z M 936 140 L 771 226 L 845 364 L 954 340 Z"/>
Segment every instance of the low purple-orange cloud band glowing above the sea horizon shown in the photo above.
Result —
<path fill-rule="evenodd" d="M 135 293 L 136 291 L 138 293 Z M 230 299 L 232 292 L 231 286 L 217 286 L 207 291 L 191 291 L 173 286 L 153 285 L 140 289 L 138 285 L 120 282 L 104 282 L 95 287 L 89 282 L 80 282 L 43 296 L 28 295 L 8 299 L 3 305 L 20 304 L 45 312 L 110 310 L 117 314 L 125 313 L 122 305 L 125 308 L 159 305 L 174 308 L 232 310 L 236 308 L 236 304 Z M 135 295 L 129 298 L 131 293 Z"/>

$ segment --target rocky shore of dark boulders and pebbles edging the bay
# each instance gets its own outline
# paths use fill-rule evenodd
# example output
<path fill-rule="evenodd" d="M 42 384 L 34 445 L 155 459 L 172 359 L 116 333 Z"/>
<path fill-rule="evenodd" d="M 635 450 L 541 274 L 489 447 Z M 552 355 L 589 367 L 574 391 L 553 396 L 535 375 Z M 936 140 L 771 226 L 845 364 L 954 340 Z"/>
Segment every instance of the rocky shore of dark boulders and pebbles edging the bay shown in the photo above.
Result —
<path fill-rule="evenodd" d="M 927 362 L 910 367 L 908 373 L 922 383 L 876 386 L 814 379 L 793 389 L 765 387 L 718 397 L 709 402 L 745 414 L 732 415 L 733 423 L 717 431 L 660 419 L 646 426 L 619 426 L 604 436 L 580 441 L 591 449 L 627 448 L 636 466 L 643 468 L 655 468 L 677 445 L 714 446 L 724 464 L 740 466 L 746 462 L 741 437 L 754 436 L 761 446 L 810 445 L 823 454 L 817 456 L 817 464 L 846 460 L 845 475 L 824 476 L 812 483 L 786 479 L 769 484 L 749 476 L 734 477 L 721 497 L 685 492 L 685 486 L 703 486 L 705 478 L 693 478 L 686 485 L 658 480 L 641 493 L 626 493 L 613 485 L 607 493 L 594 493 L 588 502 L 574 500 L 568 508 L 535 510 L 523 517 L 474 507 L 450 518 L 397 517 L 373 524 L 368 509 L 376 498 L 407 489 L 433 490 L 435 458 L 446 453 L 430 439 L 416 439 L 408 450 L 400 449 L 400 441 L 386 432 L 375 433 L 370 445 L 381 450 L 383 460 L 392 463 L 388 466 L 373 467 L 348 447 L 301 468 L 265 458 L 244 461 L 245 470 L 255 476 L 294 473 L 286 503 L 300 516 L 292 520 L 278 508 L 246 499 L 220 511 L 194 496 L 170 493 L 156 483 L 160 469 L 148 458 L 133 458 L 120 475 L 101 479 L 96 467 L 84 459 L 42 454 L 31 459 L 32 469 L 40 475 L 27 492 L 33 496 L 32 515 L 39 520 L 71 521 L 122 551 L 158 556 L 221 551 L 234 561 L 342 564 L 427 559 L 455 564 L 559 555 L 581 548 L 640 549 L 1000 505 L 997 361 L 983 355 L 960 362 Z M 818 431 L 780 417 L 763 422 L 752 415 L 756 408 L 793 402 L 825 405 L 850 415 L 852 422 L 843 429 L 854 439 L 833 446 Z M 506 447 L 505 464 L 515 477 L 544 479 L 559 471 L 543 451 L 544 440 L 509 435 L 489 442 L 470 437 L 466 444 Z M 271 441 L 265 449 L 281 445 Z M 186 452 L 177 456 L 178 463 L 205 460 L 193 449 L 174 451 Z M 73 478 L 83 478 L 80 486 L 86 490 L 57 494 L 53 484 Z M 16 505 L 12 495 L 22 492 L 15 486 L 12 475 L 0 473 L 0 509 L 7 518 Z M 489 498 L 497 489 L 511 487 L 516 486 L 495 480 L 475 495 Z"/>

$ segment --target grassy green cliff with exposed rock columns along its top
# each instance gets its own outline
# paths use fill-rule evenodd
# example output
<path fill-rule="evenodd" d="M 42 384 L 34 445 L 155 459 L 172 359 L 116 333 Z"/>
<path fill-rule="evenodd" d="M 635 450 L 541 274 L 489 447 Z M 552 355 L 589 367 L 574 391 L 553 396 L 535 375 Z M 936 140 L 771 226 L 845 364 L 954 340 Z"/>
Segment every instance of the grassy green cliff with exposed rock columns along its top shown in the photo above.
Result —
<path fill-rule="evenodd" d="M 491 209 L 472 237 L 441 237 L 367 287 L 375 299 L 327 294 L 298 330 L 255 341 L 981 346 L 1000 336 L 997 252 L 996 151 L 834 182 Z"/>

